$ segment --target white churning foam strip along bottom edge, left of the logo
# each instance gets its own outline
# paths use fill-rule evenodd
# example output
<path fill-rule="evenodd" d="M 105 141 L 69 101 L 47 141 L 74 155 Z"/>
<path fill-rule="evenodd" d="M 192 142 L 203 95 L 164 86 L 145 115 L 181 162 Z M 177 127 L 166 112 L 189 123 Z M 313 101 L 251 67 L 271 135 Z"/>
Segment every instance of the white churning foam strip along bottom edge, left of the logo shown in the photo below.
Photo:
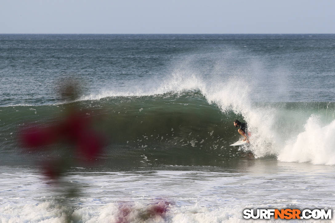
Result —
<path fill-rule="evenodd" d="M 40 204 L 11 205 L 2 208 L 1 222 L 43 222 L 63 223 L 74 222 L 155 222 L 155 223 L 235 223 L 245 222 L 243 209 L 247 207 L 202 207 L 169 205 L 164 214 L 152 215 L 148 210 L 152 205 L 140 203 L 118 204 L 110 203 L 102 206 L 79 207 L 75 210 L 55 202 Z M 273 220 L 273 219 L 271 219 Z M 270 220 L 270 221 L 271 221 Z"/>

